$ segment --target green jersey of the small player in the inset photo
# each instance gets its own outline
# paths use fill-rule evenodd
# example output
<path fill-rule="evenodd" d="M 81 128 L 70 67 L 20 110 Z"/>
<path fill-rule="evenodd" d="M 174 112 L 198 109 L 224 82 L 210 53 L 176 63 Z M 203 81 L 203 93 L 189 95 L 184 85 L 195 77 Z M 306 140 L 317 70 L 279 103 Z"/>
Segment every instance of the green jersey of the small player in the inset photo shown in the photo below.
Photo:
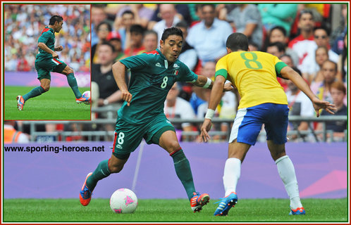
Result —
<path fill-rule="evenodd" d="M 42 31 L 42 34 L 40 34 L 40 37 L 38 39 L 38 43 L 40 42 L 46 44 L 48 48 L 51 49 L 52 51 L 55 51 L 54 29 L 50 27 L 45 27 L 45 29 Z M 39 48 L 39 53 L 37 54 L 36 61 L 47 60 L 49 58 L 52 58 L 52 55 Z"/>

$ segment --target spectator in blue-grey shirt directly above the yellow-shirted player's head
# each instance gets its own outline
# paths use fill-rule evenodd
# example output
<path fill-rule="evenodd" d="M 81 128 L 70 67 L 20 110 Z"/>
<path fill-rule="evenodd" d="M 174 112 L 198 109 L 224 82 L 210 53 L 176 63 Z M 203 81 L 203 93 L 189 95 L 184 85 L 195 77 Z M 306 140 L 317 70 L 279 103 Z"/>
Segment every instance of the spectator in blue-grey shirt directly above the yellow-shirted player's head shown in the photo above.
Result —
<path fill-rule="evenodd" d="M 254 4 L 240 4 L 227 15 L 227 20 L 233 22 L 235 32 L 245 34 L 249 41 L 263 46 L 263 25 L 261 14 Z"/>

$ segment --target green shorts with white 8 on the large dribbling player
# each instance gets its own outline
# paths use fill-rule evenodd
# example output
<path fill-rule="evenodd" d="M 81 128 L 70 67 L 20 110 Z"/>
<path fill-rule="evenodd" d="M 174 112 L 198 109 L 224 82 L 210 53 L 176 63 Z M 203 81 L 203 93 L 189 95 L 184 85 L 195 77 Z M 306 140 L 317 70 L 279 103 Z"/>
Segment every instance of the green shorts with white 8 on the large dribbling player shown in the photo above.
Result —
<path fill-rule="evenodd" d="M 161 135 L 169 130 L 175 131 L 164 113 L 140 125 L 129 124 L 124 120 L 117 119 L 112 153 L 121 160 L 128 159 L 130 153 L 140 145 L 143 138 L 148 144 L 156 143 L 158 145 Z"/>

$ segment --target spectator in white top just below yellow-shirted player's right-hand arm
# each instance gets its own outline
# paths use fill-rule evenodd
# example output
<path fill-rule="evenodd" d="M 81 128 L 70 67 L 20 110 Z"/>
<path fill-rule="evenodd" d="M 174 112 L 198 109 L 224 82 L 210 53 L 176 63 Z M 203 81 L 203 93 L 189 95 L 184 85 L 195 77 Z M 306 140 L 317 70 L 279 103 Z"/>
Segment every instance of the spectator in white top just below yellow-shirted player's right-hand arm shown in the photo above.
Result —
<path fill-rule="evenodd" d="M 300 75 L 301 72 L 297 68 L 293 68 Z M 313 117 L 314 108 L 309 98 L 290 80 L 286 79 L 288 90 L 286 96 L 288 98 L 289 115 L 300 115 L 302 117 Z M 306 131 L 309 129 L 308 122 L 302 121 L 297 123 L 290 123 L 288 129 L 295 131 Z M 297 136 L 293 135 L 290 138 L 295 139 Z"/>

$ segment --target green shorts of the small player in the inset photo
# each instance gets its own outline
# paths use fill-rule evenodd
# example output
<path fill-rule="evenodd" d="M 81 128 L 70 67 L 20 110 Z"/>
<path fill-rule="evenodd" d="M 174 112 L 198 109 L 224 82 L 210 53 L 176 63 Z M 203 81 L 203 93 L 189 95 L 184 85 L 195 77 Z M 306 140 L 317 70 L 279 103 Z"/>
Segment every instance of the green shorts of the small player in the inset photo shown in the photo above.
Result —
<path fill-rule="evenodd" d="M 44 78 L 51 80 L 51 71 L 62 73 L 66 66 L 67 64 L 63 63 L 63 61 L 58 58 L 48 58 L 46 60 L 35 61 L 35 69 L 38 72 L 39 80 Z"/>

